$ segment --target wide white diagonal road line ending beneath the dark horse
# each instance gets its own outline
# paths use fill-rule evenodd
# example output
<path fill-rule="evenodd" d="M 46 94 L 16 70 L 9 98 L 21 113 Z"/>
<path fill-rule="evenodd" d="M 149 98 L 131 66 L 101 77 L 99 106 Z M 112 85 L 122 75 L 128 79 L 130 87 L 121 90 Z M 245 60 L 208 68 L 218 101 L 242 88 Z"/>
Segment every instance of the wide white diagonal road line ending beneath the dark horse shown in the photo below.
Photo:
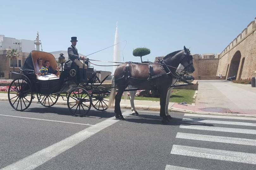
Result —
<path fill-rule="evenodd" d="M 131 111 L 127 111 L 127 112 L 124 112 L 123 116 L 127 116 L 128 114 L 131 114 Z M 104 120 L 100 123 L 95 124 L 96 126 L 90 126 L 78 133 L 75 133 L 74 135 L 66 139 L 63 139 L 45 149 L 42 149 L 30 156 L 27 156 L 26 158 L 21 159 L 20 161 L 10 164 L 1 170 L 34 169 L 42 165 L 43 163 L 49 161 L 50 159 L 54 158 L 55 156 L 58 156 L 62 152 L 72 148 L 76 144 L 79 144 L 80 142 L 84 141 L 85 139 L 89 138 L 95 133 L 105 129 L 106 127 L 109 127 L 110 125 L 113 125 L 118 121 L 119 119 L 115 119 L 115 117 L 108 118 L 107 120 Z"/>

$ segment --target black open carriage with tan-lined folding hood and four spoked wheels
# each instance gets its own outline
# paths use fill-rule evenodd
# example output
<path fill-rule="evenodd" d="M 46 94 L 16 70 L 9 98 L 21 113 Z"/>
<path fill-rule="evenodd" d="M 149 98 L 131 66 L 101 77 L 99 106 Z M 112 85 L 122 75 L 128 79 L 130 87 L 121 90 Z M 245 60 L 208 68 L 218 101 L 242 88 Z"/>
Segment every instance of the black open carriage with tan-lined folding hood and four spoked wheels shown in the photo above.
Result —
<path fill-rule="evenodd" d="M 45 107 L 56 104 L 59 98 L 67 102 L 70 112 L 76 116 L 85 116 L 91 106 L 96 110 L 106 110 L 110 90 L 101 87 L 101 84 L 111 74 L 108 71 L 94 71 L 89 66 L 86 71 L 87 82 L 80 82 L 78 77 L 78 67 L 72 63 L 71 68 L 64 67 L 56 77 L 40 79 L 42 76 L 35 74 L 34 63 L 38 58 L 49 60 L 52 68 L 57 67 L 54 56 L 50 53 L 32 51 L 25 60 L 25 64 L 20 68 L 21 73 L 12 72 L 13 81 L 8 89 L 8 99 L 10 105 L 18 111 L 26 110 L 32 100 L 37 98 L 38 103 Z M 83 60 L 88 65 L 88 60 Z M 104 76 L 105 75 L 105 76 Z"/>

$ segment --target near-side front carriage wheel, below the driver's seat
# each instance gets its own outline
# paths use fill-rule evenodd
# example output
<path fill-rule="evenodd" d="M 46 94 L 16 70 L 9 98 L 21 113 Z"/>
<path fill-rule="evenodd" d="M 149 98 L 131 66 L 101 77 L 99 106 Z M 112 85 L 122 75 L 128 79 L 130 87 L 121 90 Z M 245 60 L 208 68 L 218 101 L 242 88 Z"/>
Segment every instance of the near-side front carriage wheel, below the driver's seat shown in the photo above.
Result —
<path fill-rule="evenodd" d="M 74 88 L 68 95 L 68 108 L 76 116 L 85 116 L 91 109 L 92 99 L 84 88 Z"/>

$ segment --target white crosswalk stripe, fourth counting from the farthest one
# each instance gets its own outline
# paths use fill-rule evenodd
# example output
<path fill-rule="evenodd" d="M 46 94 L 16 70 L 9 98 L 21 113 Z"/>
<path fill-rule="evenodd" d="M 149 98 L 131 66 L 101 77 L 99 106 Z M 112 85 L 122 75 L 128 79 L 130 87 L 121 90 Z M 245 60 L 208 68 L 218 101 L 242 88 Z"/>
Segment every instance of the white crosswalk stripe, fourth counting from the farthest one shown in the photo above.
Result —
<path fill-rule="evenodd" d="M 225 136 L 211 136 L 211 135 L 180 133 L 180 132 L 177 133 L 176 138 L 256 146 L 255 139 L 232 138 L 232 137 L 225 137 Z"/>

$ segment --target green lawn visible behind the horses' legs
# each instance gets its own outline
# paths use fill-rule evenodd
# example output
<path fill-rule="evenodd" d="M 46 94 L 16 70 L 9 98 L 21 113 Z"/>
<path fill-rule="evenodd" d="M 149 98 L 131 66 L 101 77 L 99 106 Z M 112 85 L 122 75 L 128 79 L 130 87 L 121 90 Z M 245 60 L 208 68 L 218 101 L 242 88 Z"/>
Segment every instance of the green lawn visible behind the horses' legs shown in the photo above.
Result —
<path fill-rule="evenodd" d="M 195 99 L 193 98 L 195 94 L 195 90 L 174 89 L 173 91 L 174 92 L 171 94 L 170 102 L 174 102 L 174 103 L 187 102 L 187 104 L 195 103 Z M 122 96 L 122 99 L 124 99 L 123 96 Z M 135 97 L 135 100 L 160 101 L 159 98 L 154 98 L 154 97 Z"/>

